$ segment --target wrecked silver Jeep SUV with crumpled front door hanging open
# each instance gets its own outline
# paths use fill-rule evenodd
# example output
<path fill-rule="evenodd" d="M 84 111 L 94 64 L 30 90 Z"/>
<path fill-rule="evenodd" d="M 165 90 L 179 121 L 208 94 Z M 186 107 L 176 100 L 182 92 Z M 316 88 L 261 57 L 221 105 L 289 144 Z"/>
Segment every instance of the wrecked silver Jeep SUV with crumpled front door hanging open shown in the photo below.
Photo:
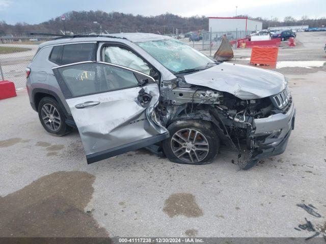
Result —
<path fill-rule="evenodd" d="M 294 127 L 284 75 L 217 62 L 166 36 L 44 42 L 26 77 L 44 129 L 78 128 L 88 163 L 155 145 L 172 162 L 200 165 L 223 143 L 248 169 L 282 154 Z"/>

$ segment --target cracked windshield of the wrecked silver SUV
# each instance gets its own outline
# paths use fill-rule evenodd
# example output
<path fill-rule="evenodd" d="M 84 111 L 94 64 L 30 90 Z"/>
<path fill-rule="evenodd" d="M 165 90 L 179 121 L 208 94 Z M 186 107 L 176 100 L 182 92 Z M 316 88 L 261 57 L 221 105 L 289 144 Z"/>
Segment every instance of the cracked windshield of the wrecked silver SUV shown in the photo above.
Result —
<path fill-rule="evenodd" d="M 173 73 L 209 68 L 209 64 L 216 62 L 187 44 L 174 39 L 137 44 Z"/>

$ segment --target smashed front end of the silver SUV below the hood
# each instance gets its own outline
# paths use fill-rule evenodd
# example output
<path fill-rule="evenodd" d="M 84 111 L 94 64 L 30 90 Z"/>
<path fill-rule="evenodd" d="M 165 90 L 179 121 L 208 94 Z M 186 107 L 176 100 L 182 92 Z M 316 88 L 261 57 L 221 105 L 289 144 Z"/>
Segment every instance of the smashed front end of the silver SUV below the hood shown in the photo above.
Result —
<path fill-rule="evenodd" d="M 162 82 L 156 114 L 165 127 L 177 120 L 210 121 L 219 139 L 237 151 L 239 166 L 249 169 L 262 158 L 282 154 L 287 146 L 295 109 L 287 84 L 284 87 L 276 95 L 240 99 L 178 77 Z"/>

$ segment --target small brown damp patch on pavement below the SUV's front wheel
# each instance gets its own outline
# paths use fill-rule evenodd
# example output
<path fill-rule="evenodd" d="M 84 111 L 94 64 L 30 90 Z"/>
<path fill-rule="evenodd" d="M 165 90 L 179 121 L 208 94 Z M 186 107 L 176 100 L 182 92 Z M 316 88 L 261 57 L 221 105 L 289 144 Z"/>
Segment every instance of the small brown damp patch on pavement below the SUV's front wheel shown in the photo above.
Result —
<path fill-rule="evenodd" d="M 165 201 L 163 211 L 170 217 L 183 215 L 185 217 L 199 217 L 203 215 L 195 196 L 190 193 L 175 193 Z"/>

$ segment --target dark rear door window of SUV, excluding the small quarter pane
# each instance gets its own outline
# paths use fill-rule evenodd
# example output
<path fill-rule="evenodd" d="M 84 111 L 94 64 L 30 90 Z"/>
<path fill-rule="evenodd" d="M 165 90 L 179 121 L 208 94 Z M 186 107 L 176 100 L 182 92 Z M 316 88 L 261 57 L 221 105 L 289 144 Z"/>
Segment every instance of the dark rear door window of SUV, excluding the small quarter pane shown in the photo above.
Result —
<path fill-rule="evenodd" d="M 62 60 L 57 62 L 61 65 L 72 64 L 82 61 L 94 61 L 95 43 L 69 44 L 63 46 Z"/>

